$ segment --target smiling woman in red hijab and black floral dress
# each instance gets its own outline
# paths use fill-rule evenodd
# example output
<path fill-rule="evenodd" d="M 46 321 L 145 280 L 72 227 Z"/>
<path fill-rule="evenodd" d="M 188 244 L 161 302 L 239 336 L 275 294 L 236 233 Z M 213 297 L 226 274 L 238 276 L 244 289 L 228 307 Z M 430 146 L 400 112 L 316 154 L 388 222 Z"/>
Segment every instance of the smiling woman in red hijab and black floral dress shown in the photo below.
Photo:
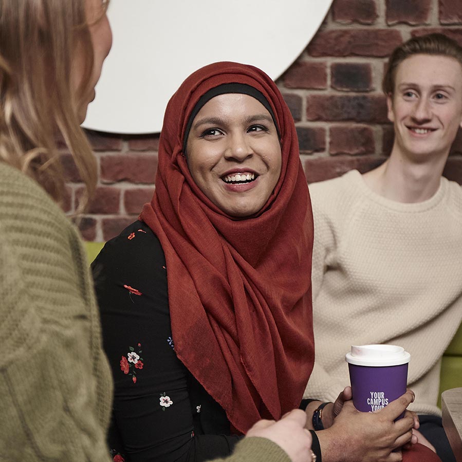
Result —
<path fill-rule="evenodd" d="M 115 380 L 114 460 L 224 456 L 257 420 L 299 407 L 314 360 L 312 242 L 279 89 L 252 66 L 194 72 L 165 111 L 152 201 L 93 265 Z M 328 438 L 363 418 L 346 404 L 345 413 Z M 412 426 L 406 413 L 387 428 L 389 453 Z"/>

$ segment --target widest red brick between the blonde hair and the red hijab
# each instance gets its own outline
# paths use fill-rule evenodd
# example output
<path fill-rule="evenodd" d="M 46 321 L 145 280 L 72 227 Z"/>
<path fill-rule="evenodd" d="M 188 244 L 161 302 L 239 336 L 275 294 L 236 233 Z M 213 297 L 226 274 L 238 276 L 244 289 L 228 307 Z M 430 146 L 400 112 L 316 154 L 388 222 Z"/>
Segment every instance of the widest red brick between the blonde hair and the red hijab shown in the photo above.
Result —
<path fill-rule="evenodd" d="M 101 180 L 131 181 L 154 184 L 157 170 L 157 154 L 127 153 L 101 156 Z"/>

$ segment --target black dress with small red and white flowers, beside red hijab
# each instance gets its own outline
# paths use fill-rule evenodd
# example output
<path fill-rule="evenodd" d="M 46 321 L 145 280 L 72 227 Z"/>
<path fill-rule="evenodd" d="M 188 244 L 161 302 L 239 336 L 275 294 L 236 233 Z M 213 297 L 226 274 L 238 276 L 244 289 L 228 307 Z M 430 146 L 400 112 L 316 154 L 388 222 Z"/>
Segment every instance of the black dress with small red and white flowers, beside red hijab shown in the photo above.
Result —
<path fill-rule="evenodd" d="M 104 349 L 115 382 L 109 448 L 116 462 L 200 461 L 226 456 L 224 410 L 175 355 L 165 257 L 136 221 L 92 265 Z"/>

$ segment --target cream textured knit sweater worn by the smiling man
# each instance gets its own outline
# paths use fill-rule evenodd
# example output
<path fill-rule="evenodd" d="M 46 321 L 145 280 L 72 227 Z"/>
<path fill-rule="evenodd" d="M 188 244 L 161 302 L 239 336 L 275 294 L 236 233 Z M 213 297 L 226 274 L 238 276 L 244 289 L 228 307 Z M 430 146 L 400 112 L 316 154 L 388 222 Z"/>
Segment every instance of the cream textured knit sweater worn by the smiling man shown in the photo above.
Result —
<path fill-rule="evenodd" d="M 315 368 L 305 396 L 334 401 L 349 384 L 351 345 L 390 343 L 411 354 L 410 409 L 440 415 L 441 356 L 462 319 L 462 189 L 402 204 L 360 173 L 310 185 Z"/>

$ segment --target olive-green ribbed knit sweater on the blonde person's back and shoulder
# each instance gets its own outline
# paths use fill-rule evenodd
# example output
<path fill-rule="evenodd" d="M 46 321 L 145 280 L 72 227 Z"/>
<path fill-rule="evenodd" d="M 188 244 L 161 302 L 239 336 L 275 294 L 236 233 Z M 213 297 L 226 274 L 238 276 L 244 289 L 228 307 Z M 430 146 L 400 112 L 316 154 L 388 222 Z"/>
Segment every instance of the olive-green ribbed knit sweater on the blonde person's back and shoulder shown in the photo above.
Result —
<path fill-rule="evenodd" d="M 0 460 L 108 461 L 112 379 L 77 229 L 0 162 Z"/>

